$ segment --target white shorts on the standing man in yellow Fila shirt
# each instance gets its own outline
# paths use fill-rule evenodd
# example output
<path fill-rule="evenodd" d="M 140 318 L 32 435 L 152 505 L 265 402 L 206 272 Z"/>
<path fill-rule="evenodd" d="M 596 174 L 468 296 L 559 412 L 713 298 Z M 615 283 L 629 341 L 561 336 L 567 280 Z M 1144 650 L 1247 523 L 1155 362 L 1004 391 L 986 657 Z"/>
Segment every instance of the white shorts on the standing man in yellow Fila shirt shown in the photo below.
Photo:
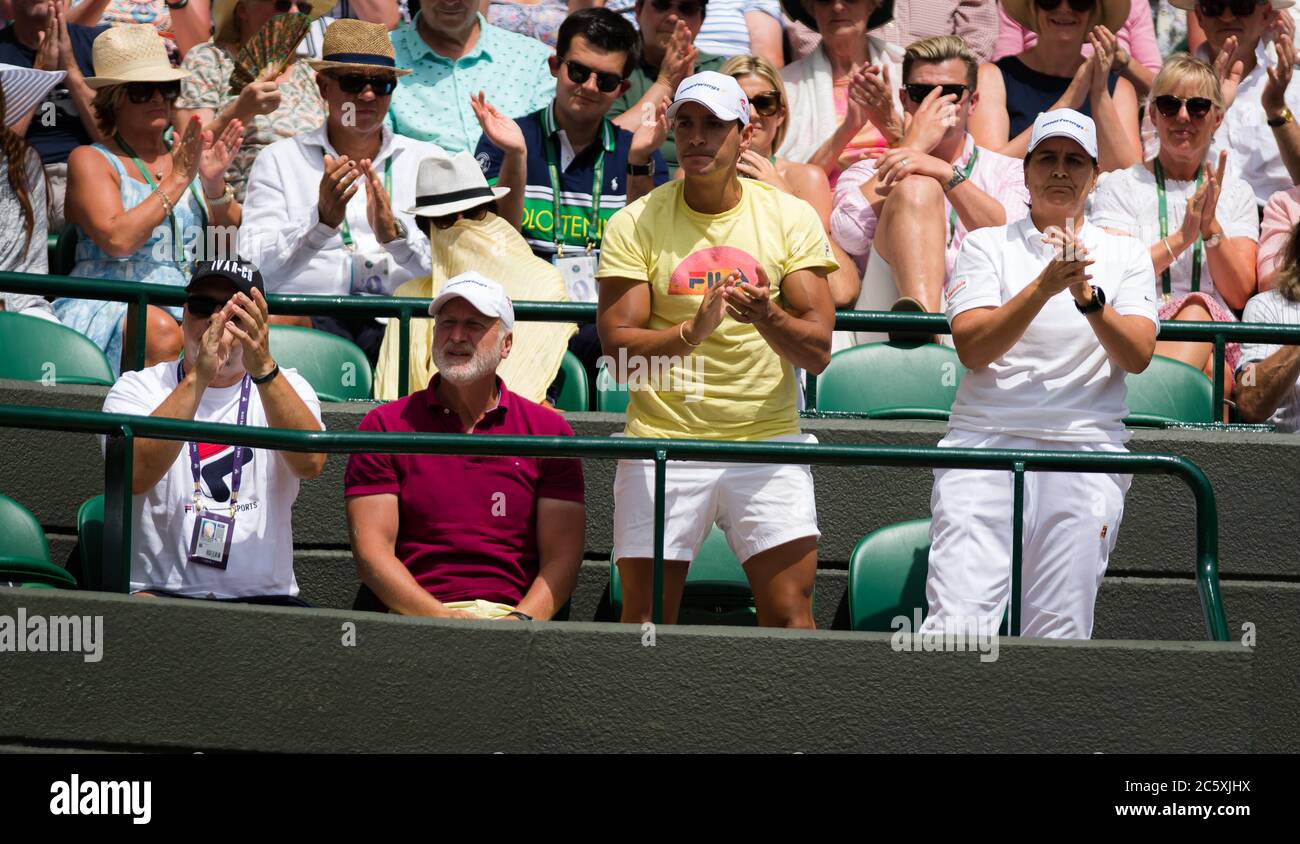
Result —
<path fill-rule="evenodd" d="M 664 559 L 693 560 L 715 523 L 741 564 L 779 545 L 822 536 L 807 466 L 668 460 L 663 512 Z M 614 559 L 627 558 L 654 558 L 654 460 L 619 460 L 614 477 Z"/>

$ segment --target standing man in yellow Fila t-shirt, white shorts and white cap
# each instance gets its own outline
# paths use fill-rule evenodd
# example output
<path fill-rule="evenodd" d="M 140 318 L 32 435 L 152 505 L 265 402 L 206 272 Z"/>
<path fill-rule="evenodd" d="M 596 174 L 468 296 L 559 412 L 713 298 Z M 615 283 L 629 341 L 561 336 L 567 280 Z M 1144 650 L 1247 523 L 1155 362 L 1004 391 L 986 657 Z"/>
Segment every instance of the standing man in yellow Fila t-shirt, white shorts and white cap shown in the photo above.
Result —
<path fill-rule="evenodd" d="M 749 99 L 706 70 L 668 109 L 682 179 L 614 215 L 601 250 L 601 342 L 654 373 L 630 389 L 629 437 L 815 442 L 800 433 L 794 368 L 831 359 L 837 269 L 802 199 L 736 172 Z M 663 365 L 663 362 L 670 362 Z M 625 376 L 625 373 L 615 373 Z M 767 627 L 812 627 L 816 505 L 807 466 L 672 462 L 664 502 L 664 622 L 716 523 L 745 567 Z M 650 620 L 654 466 L 620 460 L 614 484 L 623 620 Z"/>

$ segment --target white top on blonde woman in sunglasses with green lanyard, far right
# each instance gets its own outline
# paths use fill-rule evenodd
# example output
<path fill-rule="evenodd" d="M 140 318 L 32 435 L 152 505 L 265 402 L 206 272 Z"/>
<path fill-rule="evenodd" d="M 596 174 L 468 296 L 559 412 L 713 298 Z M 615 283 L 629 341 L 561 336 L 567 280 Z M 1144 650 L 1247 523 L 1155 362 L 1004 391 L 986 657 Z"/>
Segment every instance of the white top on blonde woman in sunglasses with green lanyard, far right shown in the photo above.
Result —
<path fill-rule="evenodd" d="M 1187 200 L 1196 192 L 1196 179 L 1175 182 L 1165 179 L 1165 207 L 1169 212 L 1169 233 L 1178 231 L 1187 216 Z M 1104 229 L 1117 229 L 1138 238 L 1147 248 L 1160 241 L 1160 198 L 1156 191 L 1156 174 L 1141 164 L 1127 170 L 1104 173 L 1092 191 L 1092 205 L 1088 222 Z M 1260 239 L 1260 212 L 1254 204 L 1254 191 L 1251 186 L 1231 173 L 1223 176 L 1223 191 L 1219 194 L 1216 209 L 1219 225 L 1226 238 Z M 1149 255 L 1150 252 L 1148 252 Z M 1195 250 L 1188 247 L 1169 268 L 1169 282 L 1173 298 L 1192 291 L 1192 261 Z M 1156 274 L 1154 290 L 1161 291 L 1161 277 Z M 1210 264 L 1201 250 L 1201 293 L 1213 297 L 1231 311 L 1223 297 L 1214 287 Z"/>

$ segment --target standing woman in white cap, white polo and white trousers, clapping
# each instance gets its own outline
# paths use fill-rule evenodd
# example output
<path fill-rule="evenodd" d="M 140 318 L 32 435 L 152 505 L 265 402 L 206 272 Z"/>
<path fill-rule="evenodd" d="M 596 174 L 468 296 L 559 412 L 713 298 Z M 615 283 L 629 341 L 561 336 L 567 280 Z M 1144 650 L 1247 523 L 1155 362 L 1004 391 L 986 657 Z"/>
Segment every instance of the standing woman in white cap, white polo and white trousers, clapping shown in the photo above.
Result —
<path fill-rule="evenodd" d="M 1124 375 L 1145 369 L 1156 347 L 1156 278 L 1141 242 L 1084 221 L 1096 178 L 1092 120 L 1071 109 L 1039 114 L 1024 157 L 1030 216 L 972 231 L 944 291 L 970 372 L 940 446 L 1124 450 Z M 1128 481 L 1026 475 L 1023 636 L 1092 635 Z M 923 631 L 1001 622 L 1011 484 L 1004 471 L 935 471 Z"/>

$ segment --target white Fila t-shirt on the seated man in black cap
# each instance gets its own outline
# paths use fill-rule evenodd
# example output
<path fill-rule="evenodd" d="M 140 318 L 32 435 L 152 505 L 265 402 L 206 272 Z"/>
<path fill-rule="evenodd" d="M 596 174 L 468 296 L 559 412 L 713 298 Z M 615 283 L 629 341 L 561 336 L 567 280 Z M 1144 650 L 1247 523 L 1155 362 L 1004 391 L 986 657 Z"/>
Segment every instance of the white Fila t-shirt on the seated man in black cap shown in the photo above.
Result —
<path fill-rule="evenodd" d="M 281 369 L 280 377 L 289 380 L 320 424 L 321 404 L 311 385 L 294 369 Z M 176 386 L 176 362 L 160 363 L 140 372 L 124 372 L 104 399 L 104 412 L 148 416 Z M 209 386 L 194 419 L 235 424 L 239 419 L 239 384 Z M 247 427 L 268 427 L 256 386 L 252 386 L 248 398 Z M 204 511 L 231 515 L 230 484 L 235 451 L 234 446 L 199 443 Z M 194 480 L 190 447 L 183 445 L 162 480 L 143 495 L 133 495 L 131 592 L 166 589 L 199 598 L 298 594 L 291 516 L 299 481 L 278 453 L 264 449 L 239 451 L 244 460 L 243 477 L 226 570 L 188 562 L 194 534 Z"/>

